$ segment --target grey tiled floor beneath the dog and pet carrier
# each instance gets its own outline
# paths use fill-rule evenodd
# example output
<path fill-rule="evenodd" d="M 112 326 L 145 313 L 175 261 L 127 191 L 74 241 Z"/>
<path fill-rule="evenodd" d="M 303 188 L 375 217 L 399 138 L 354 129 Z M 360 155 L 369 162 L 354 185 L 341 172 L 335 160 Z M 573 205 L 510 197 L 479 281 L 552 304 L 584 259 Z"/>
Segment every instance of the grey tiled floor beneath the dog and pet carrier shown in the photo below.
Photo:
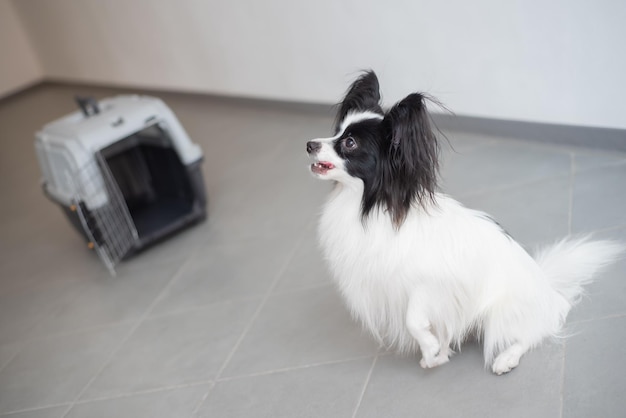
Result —
<path fill-rule="evenodd" d="M 209 219 L 110 277 L 43 197 L 33 133 L 76 93 L 119 92 L 47 85 L 0 102 L 0 415 L 624 416 L 626 261 L 589 288 L 570 338 L 506 376 L 473 343 L 424 371 L 362 334 L 315 242 L 329 184 L 304 143 L 332 115 L 162 94 L 204 149 Z M 443 189 L 523 244 L 626 241 L 626 154 L 446 134 Z"/>

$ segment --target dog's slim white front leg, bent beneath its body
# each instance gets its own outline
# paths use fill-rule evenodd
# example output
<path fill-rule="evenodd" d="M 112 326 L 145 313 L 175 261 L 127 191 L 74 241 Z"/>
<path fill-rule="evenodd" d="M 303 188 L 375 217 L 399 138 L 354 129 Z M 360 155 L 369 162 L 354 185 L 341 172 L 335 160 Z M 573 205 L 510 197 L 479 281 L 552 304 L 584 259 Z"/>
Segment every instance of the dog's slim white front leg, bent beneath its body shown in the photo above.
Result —
<path fill-rule="evenodd" d="M 409 300 L 406 326 L 420 346 L 420 351 L 422 352 L 420 366 L 424 369 L 429 369 L 448 362 L 450 356 L 449 343 L 442 345 L 435 337 L 421 300 L 416 295 Z"/>

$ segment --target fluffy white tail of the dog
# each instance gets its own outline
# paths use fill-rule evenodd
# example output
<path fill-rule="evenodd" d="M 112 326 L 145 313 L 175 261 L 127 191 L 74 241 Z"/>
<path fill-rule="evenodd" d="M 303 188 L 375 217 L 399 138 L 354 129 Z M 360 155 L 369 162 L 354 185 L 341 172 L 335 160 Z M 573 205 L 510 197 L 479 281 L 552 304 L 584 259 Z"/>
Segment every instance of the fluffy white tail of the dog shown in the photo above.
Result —
<path fill-rule="evenodd" d="M 554 289 L 574 306 L 585 294 L 584 286 L 611 263 L 626 247 L 616 241 L 591 241 L 590 237 L 565 238 L 537 252 L 541 266 Z"/>

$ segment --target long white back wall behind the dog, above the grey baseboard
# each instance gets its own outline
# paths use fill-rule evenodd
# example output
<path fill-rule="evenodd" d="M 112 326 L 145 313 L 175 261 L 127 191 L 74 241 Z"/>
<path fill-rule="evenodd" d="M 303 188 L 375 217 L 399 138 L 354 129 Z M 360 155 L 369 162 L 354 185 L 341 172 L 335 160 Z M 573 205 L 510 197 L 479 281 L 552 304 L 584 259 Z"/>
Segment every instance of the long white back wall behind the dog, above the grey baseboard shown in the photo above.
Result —
<path fill-rule="evenodd" d="M 361 68 L 386 103 L 626 128 L 623 0 L 29 0 L 47 76 L 335 102 Z"/>

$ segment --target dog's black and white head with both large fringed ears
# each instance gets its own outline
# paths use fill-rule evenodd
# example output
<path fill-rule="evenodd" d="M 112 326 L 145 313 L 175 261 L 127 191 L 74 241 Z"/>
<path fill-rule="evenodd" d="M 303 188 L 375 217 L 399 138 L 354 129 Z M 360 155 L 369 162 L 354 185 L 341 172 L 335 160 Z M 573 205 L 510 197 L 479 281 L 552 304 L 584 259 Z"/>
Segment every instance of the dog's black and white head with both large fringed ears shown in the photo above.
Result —
<path fill-rule="evenodd" d="M 397 228 L 411 206 L 432 199 L 438 151 L 425 96 L 410 94 L 385 112 L 373 71 L 348 89 L 339 105 L 335 135 L 307 143 L 315 176 L 363 187 L 362 219 L 381 208 Z"/>

